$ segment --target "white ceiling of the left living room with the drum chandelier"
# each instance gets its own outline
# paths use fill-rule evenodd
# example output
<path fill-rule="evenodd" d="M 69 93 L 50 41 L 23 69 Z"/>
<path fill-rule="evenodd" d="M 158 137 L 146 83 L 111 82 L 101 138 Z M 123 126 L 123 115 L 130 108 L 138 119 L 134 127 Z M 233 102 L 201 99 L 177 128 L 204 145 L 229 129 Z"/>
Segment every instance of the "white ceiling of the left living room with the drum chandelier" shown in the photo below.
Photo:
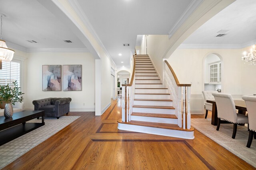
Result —
<path fill-rule="evenodd" d="M 26 49 L 86 49 L 68 25 L 62 23 L 38 1 L 0 0 L 0 4 L 0 13 L 6 15 L 3 17 L 2 39 L 7 45 L 14 43 Z M 71 40 L 73 43 L 65 43 L 63 40 Z"/>

